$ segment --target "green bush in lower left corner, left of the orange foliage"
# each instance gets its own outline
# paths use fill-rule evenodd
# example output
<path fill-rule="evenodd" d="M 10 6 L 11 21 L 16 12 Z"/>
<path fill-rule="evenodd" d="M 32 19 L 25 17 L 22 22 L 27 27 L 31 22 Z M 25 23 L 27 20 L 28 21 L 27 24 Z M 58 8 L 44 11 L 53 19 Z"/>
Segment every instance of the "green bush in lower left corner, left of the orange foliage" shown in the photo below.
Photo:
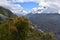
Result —
<path fill-rule="evenodd" d="M 10 28 L 7 21 L 0 24 L 0 40 L 10 40 Z"/>

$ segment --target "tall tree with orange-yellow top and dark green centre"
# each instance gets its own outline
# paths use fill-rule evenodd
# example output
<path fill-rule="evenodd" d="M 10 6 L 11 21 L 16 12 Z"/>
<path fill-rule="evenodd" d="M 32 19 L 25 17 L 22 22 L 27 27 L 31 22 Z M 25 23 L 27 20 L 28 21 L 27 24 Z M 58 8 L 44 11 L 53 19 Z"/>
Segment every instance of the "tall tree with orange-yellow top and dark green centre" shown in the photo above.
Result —
<path fill-rule="evenodd" d="M 28 31 L 30 29 L 30 23 L 25 17 L 14 18 L 13 25 L 18 31 L 18 40 L 26 40 Z"/>

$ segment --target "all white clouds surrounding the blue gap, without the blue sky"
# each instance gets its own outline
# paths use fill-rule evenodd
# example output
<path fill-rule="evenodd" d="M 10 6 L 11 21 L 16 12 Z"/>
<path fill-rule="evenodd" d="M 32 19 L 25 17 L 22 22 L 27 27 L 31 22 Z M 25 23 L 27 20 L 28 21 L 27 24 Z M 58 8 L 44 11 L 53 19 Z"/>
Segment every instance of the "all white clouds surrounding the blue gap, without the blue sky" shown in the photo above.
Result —
<path fill-rule="evenodd" d="M 33 8 L 34 10 L 39 9 L 40 7 L 46 7 L 42 12 L 59 12 L 60 13 L 60 0 L 0 0 L 0 6 L 10 9 L 13 13 L 16 14 L 27 14 L 27 11 L 23 10 L 23 7 L 20 4 L 15 4 L 19 2 L 37 2 L 39 3 L 38 8 Z M 22 13 L 23 12 L 23 13 Z"/>

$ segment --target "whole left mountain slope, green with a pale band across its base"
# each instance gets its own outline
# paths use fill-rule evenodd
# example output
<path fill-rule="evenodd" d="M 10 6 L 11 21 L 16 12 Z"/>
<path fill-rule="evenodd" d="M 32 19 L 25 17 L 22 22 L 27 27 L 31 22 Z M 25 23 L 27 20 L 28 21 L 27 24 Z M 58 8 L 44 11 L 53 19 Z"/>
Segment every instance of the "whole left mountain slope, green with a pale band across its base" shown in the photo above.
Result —
<path fill-rule="evenodd" d="M 0 23 L 3 22 L 3 20 L 8 19 L 12 20 L 12 18 L 17 17 L 15 14 L 13 14 L 10 10 L 0 7 Z"/>

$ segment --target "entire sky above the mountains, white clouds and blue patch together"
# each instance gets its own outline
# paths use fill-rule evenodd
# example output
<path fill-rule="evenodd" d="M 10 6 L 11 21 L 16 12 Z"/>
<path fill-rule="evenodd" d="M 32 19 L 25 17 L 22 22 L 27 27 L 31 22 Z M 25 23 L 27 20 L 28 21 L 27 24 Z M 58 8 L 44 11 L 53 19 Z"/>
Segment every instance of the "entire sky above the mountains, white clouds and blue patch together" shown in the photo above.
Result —
<path fill-rule="evenodd" d="M 60 0 L 0 0 L 0 6 L 6 7 L 16 14 L 27 13 L 33 8 L 44 6 L 48 9 L 45 9 L 46 11 L 50 11 L 52 10 L 51 8 L 53 8 L 54 12 L 56 10 L 57 12 L 60 12 Z M 23 13 L 21 13 L 22 10 Z"/>

